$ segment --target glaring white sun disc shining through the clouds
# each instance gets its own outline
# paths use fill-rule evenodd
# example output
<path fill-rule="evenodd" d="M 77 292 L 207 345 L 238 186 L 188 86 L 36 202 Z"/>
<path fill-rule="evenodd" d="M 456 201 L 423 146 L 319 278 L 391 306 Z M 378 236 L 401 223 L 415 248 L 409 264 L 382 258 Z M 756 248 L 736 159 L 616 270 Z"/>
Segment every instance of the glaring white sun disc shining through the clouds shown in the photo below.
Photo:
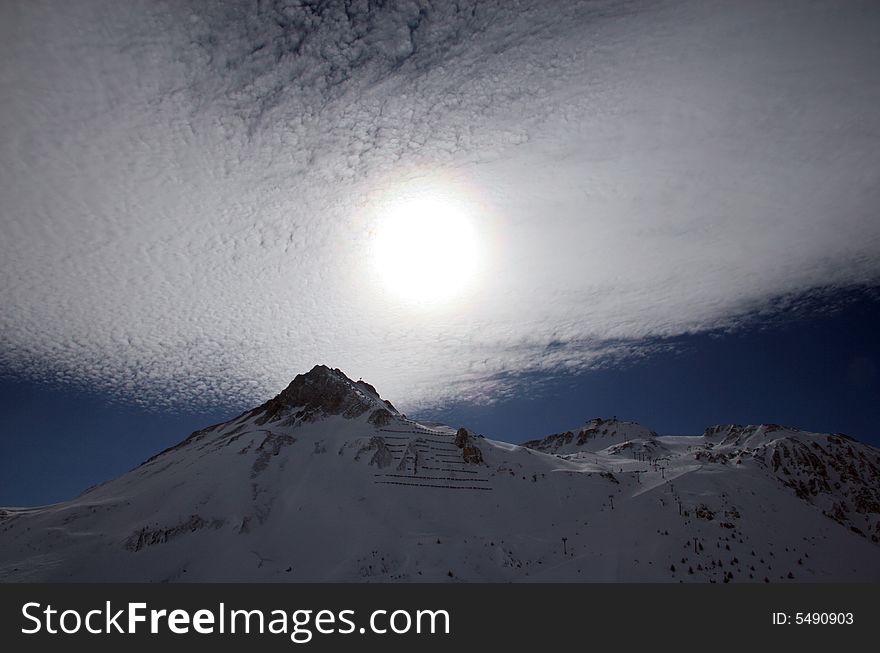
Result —
<path fill-rule="evenodd" d="M 468 289 L 479 252 L 463 202 L 418 193 L 385 203 L 377 218 L 373 259 L 388 292 L 414 304 L 436 305 Z"/>

